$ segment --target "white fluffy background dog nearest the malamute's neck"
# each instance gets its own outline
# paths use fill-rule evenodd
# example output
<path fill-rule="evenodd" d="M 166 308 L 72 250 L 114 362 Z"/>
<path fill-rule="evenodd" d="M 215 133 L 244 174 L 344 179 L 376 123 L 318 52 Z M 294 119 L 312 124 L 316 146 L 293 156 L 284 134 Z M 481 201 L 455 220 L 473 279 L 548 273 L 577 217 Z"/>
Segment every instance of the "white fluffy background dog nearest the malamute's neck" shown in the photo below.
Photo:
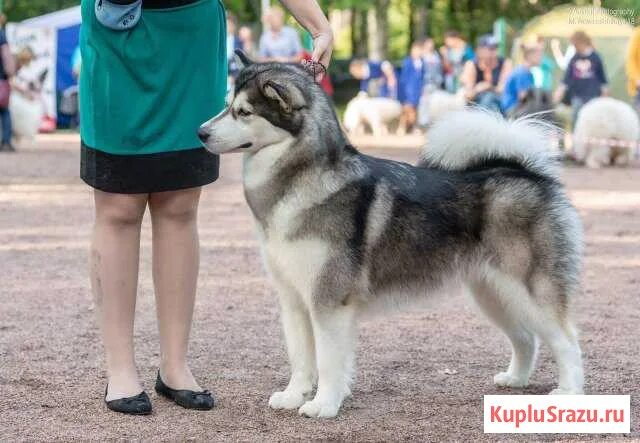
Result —
<path fill-rule="evenodd" d="M 347 104 L 343 124 L 350 134 L 363 134 L 368 125 L 373 135 L 380 136 L 388 134 L 389 125 L 399 121 L 401 115 L 402 105 L 397 100 L 360 92 Z"/>

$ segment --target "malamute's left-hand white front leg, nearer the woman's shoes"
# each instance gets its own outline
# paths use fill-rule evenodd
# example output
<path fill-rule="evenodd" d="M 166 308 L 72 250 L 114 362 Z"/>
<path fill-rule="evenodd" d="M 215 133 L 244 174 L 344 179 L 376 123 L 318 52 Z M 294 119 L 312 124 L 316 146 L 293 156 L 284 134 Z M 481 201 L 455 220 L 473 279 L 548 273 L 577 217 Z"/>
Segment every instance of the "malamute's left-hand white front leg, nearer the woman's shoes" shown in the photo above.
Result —
<path fill-rule="evenodd" d="M 316 379 L 313 331 L 309 313 L 298 294 L 284 285 L 278 286 L 291 379 L 284 391 L 271 395 L 269 406 L 273 409 L 296 409 L 311 393 Z"/>

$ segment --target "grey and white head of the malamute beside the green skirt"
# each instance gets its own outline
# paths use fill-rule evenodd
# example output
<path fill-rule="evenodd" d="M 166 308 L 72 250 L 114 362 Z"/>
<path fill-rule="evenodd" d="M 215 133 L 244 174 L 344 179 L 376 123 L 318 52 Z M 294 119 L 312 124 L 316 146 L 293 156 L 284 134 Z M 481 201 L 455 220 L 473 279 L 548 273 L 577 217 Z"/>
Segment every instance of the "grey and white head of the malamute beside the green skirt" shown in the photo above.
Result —
<path fill-rule="evenodd" d="M 198 130 L 206 149 L 253 153 L 296 139 L 314 102 L 327 100 L 313 76 L 301 65 L 253 63 L 240 51 L 236 55 L 242 70 L 231 103 Z"/>

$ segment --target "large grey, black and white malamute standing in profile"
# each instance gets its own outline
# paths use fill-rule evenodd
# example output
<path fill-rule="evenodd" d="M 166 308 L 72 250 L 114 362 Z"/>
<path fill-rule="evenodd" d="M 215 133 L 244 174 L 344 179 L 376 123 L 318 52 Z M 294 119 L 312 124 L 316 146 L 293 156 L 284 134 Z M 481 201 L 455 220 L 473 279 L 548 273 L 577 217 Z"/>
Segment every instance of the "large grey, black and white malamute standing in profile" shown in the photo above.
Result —
<path fill-rule="evenodd" d="M 272 408 L 334 417 L 351 392 L 358 315 L 450 282 L 511 341 L 497 385 L 528 384 L 540 338 L 558 364 L 553 393 L 582 392 L 569 319 L 581 225 L 544 131 L 461 111 L 436 123 L 418 166 L 375 158 L 349 144 L 302 67 L 243 61 L 231 104 L 199 135 L 211 152 L 244 155 L 291 363 Z"/>

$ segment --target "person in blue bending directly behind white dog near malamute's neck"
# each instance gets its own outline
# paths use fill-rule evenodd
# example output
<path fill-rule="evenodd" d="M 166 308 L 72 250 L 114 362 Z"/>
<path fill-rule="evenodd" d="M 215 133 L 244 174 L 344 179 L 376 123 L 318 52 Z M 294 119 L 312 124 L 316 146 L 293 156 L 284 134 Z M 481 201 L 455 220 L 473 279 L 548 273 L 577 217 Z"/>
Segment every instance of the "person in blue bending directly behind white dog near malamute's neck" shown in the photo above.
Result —
<path fill-rule="evenodd" d="M 360 92 L 372 97 L 398 98 L 398 78 L 391 62 L 355 59 L 349 64 L 349 73 L 360 80 Z"/>

